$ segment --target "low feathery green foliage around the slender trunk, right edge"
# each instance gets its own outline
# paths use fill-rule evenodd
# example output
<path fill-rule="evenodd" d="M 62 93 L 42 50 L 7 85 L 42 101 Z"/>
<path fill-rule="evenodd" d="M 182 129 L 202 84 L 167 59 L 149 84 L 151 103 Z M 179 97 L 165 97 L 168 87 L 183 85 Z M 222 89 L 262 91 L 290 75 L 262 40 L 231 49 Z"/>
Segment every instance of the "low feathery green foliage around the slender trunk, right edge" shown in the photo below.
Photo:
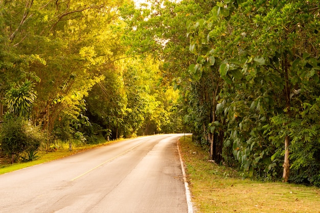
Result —
<path fill-rule="evenodd" d="M 319 137 L 320 125 L 319 117 L 319 99 L 314 104 L 303 104 L 303 110 L 296 109 L 296 117 L 283 117 L 283 115 L 274 116 L 271 119 L 272 125 L 266 125 L 269 139 L 279 151 L 272 155 L 271 159 L 279 161 L 282 156 L 282 145 L 279 141 L 288 134 L 291 138 L 291 178 L 296 183 L 311 183 L 319 185 Z M 294 109 L 292 109 L 294 110 Z M 283 125 L 286 123 L 287 125 Z M 273 130 L 275 129 L 275 130 Z"/>

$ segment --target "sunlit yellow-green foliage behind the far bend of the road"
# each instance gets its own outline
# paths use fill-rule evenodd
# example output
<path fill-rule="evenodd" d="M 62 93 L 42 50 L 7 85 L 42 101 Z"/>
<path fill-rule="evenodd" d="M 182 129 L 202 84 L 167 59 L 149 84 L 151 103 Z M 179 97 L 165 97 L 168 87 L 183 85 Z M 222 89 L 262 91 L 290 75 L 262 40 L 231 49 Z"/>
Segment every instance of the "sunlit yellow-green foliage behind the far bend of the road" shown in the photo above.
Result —
<path fill-rule="evenodd" d="M 170 119 L 177 116 L 173 110 L 177 93 L 162 87 L 158 64 L 150 58 L 124 59 L 89 92 L 87 116 L 104 129 L 105 138 L 178 130 L 179 125 L 170 126 Z"/>

